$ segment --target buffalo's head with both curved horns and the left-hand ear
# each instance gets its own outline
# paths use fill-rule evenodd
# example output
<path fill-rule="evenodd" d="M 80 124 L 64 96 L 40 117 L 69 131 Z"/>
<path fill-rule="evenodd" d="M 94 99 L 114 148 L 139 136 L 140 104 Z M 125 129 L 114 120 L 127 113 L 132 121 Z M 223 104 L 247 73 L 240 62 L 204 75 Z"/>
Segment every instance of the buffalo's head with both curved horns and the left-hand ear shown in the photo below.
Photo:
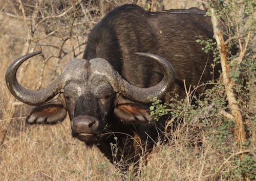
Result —
<path fill-rule="evenodd" d="M 20 101 L 37 106 L 27 118 L 29 123 L 57 123 L 66 117 L 68 111 L 72 135 L 88 143 L 93 143 L 102 134 L 110 114 L 125 119 L 120 116 L 123 115 L 120 109 L 115 111 L 118 96 L 146 104 L 150 102 L 148 97 L 163 97 L 174 82 L 174 70 L 168 61 L 153 54 L 137 53 L 162 66 L 164 76 L 157 85 L 149 88 L 133 86 L 108 61 L 96 58 L 73 59 L 49 87 L 28 90 L 17 82 L 16 72 L 24 61 L 40 53 L 27 54 L 9 66 L 6 83 L 10 92 Z M 57 94 L 58 97 L 51 100 Z"/>

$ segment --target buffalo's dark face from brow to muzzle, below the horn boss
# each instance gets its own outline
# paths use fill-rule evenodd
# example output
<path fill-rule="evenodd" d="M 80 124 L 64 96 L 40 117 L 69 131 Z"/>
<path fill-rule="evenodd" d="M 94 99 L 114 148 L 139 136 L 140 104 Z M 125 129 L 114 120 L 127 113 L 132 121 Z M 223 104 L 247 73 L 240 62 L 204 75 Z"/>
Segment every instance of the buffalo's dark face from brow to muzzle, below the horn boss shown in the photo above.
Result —
<path fill-rule="evenodd" d="M 101 85 L 97 84 L 101 82 Z M 86 84 L 69 84 L 64 88 L 72 136 L 84 142 L 96 141 L 103 132 L 115 92 L 104 80 Z"/>

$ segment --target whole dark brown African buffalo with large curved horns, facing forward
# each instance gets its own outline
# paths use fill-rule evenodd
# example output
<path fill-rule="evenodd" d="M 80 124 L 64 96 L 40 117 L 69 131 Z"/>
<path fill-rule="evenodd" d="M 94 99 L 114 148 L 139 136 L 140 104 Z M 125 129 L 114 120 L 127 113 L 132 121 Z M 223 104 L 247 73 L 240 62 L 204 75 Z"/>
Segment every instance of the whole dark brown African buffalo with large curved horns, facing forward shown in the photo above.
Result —
<path fill-rule="evenodd" d="M 17 99 L 38 106 L 28 123 L 57 123 L 68 112 L 73 137 L 95 144 L 112 163 L 135 163 L 165 123 L 150 116 L 150 98 L 184 98 L 183 80 L 196 86 L 218 77 L 212 54 L 196 42 L 212 36 L 210 17 L 197 8 L 146 12 L 123 5 L 94 27 L 83 59 L 71 60 L 49 87 L 27 90 L 16 80 L 18 67 L 40 52 L 15 60 L 6 83 Z"/>

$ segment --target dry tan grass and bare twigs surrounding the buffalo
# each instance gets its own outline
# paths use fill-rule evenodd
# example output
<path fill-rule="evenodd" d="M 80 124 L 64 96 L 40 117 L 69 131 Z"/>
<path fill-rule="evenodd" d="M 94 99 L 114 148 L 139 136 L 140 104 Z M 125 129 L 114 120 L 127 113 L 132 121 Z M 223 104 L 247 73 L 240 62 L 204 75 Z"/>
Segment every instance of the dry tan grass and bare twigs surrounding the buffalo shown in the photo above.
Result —
<path fill-rule="evenodd" d="M 175 6 L 179 5 L 177 2 Z M 190 1 L 184 2 L 178 8 L 190 7 Z M 194 3 L 191 6 L 205 8 L 198 2 L 196 5 L 195 1 L 191 2 Z M 211 137 L 216 133 L 211 130 L 214 127 L 206 128 L 207 124 L 199 119 L 203 117 L 209 121 L 216 112 L 207 111 L 207 108 L 218 110 L 217 103 L 208 105 L 202 112 L 193 113 L 193 121 L 186 122 L 186 117 L 183 117 L 184 123 L 167 134 L 168 144 L 157 143 L 148 164 L 141 162 L 138 175 L 132 172 L 124 175 L 97 148 L 88 148 L 73 139 L 68 117 L 56 125 L 25 123 L 31 106 L 20 104 L 10 95 L 4 76 L 9 64 L 25 53 L 42 49 L 44 57 L 32 58 L 24 69 L 19 70 L 18 79 L 30 89 L 46 87 L 71 58 L 81 58 L 87 35 L 94 25 L 111 9 L 125 3 L 136 3 L 153 10 L 167 6 L 166 1 L 139 0 L 0 2 L 1 180 L 231 180 L 238 179 L 227 176 L 230 173 L 234 175 L 236 170 L 233 168 L 238 168 L 237 156 L 250 153 L 255 159 L 254 139 L 243 150 L 237 149 L 232 136 L 225 137 L 225 143 L 220 144 L 223 149 L 212 145 L 217 144 Z M 219 98 L 223 94 L 223 91 L 214 92 L 211 98 Z M 250 113 L 253 113 L 251 109 Z M 183 111 L 187 113 L 187 110 Z M 246 115 L 248 125 L 255 126 L 254 115 Z M 220 114 L 218 118 L 228 121 L 226 116 Z M 222 122 L 217 121 L 216 124 L 221 126 Z M 225 127 L 224 131 L 233 134 L 231 127 Z M 248 132 L 253 138 L 253 129 Z M 202 146 L 198 146 L 198 142 Z M 224 149 L 226 146 L 228 149 Z M 253 163 L 255 168 L 255 160 Z"/>

